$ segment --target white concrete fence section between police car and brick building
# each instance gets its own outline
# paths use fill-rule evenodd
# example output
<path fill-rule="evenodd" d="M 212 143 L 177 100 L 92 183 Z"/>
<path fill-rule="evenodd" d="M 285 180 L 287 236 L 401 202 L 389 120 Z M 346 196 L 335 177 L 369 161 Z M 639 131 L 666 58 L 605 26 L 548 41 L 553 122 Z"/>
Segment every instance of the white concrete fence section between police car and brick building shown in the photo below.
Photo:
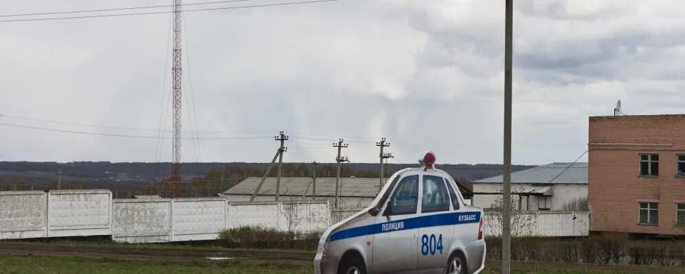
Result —
<path fill-rule="evenodd" d="M 502 217 L 486 212 L 484 230 L 487 236 L 502 235 Z M 512 236 L 588 236 L 589 212 L 528 211 L 512 215 Z"/>

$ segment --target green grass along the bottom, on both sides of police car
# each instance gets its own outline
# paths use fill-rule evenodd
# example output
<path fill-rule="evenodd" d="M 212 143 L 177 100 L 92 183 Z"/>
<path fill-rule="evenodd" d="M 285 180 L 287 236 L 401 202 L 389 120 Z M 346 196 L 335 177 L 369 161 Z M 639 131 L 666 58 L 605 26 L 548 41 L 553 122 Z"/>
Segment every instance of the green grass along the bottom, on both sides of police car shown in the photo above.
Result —
<path fill-rule="evenodd" d="M 598 269 L 600 267 L 600 269 Z M 584 264 L 536 264 L 515 262 L 515 274 L 638 274 L 678 273 L 660 268 L 617 266 L 596 266 Z M 30 256 L 0 255 L 0 274 L 10 273 L 313 273 L 312 262 L 277 261 L 258 262 L 249 260 L 231 261 L 165 261 L 165 260 L 119 260 L 112 258 L 90 258 L 75 256 Z M 499 262 L 489 262 L 483 274 L 499 274 Z"/>

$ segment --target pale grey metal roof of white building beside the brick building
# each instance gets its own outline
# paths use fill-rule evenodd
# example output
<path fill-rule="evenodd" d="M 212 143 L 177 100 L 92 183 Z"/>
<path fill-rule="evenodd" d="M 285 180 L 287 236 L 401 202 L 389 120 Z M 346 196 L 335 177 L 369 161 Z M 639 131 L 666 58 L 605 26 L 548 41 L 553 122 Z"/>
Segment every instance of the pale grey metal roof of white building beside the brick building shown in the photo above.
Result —
<path fill-rule="evenodd" d="M 502 184 L 502 175 L 473 181 Z M 587 184 L 587 162 L 552 163 L 511 173 L 512 184 Z"/>

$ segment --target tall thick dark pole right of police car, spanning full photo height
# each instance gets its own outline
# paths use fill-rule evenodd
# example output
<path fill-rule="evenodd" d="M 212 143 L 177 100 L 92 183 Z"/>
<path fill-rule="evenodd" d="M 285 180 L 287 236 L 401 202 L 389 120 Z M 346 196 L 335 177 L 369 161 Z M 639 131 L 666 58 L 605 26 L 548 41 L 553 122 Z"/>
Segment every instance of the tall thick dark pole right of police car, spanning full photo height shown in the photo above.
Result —
<path fill-rule="evenodd" d="M 502 188 L 502 274 L 511 272 L 511 82 L 513 0 L 505 0 L 504 20 L 504 187 Z"/>

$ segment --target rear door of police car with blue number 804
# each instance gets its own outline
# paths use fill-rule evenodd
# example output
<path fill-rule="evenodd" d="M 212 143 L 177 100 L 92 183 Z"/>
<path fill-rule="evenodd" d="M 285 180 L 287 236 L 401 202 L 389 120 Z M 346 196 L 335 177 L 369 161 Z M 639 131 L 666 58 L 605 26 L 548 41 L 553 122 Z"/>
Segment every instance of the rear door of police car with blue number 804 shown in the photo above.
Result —
<path fill-rule="evenodd" d="M 421 273 L 443 273 L 447 264 L 457 219 L 448 186 L 442 176 L 423 175 L 421 179 L 417 237 Z"/>

